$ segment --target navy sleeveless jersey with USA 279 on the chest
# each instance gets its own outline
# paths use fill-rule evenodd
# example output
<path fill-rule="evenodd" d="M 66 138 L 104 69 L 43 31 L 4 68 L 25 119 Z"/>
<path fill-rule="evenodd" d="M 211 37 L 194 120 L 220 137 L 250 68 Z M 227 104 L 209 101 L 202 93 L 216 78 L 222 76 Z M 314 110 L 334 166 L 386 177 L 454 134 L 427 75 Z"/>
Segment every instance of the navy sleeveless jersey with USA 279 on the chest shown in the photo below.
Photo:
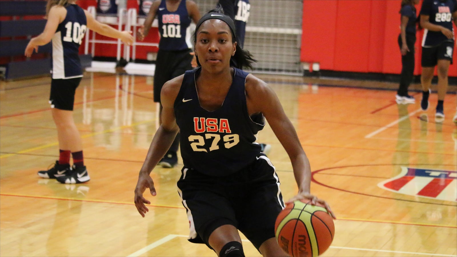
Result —
<path fill-rule="evenodd" d="M 200 106 L 195 81 L 201 68 L 186 71 L 174 104 L 184 166 L 208 176 L 233 174 L 260 153 L 255 134 L 265 119 L 261 113 L 249 116 L 244 92 L 249 73 L 233 69 L 232 85 L 219 109 L 209 112 Z"/>

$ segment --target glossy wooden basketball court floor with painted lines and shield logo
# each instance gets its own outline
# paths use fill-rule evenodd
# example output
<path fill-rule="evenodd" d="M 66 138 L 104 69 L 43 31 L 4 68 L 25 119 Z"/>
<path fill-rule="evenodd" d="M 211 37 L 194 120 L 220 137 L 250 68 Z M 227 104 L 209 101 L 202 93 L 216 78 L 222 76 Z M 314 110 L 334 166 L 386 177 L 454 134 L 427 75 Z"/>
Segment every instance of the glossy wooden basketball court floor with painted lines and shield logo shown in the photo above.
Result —
<path fill-rule="evenodd" d="M 418 91 L 415 104 L 394 101 L 396 83 L 258 76 L 297 129 L 312 193 L 338 217 L 322 256 L 457 256 L 455 85 L 445 120 L 436 122 L 436 93 L 421 112 Z M 85 74 L 74 118 L 91 180 L 78 185 L 37 176 L 58 157 L 49 77 L 0 83 L 0 256 L 216 256 L 186 240 L 176 190 L 181 158 L 152 172 L 158 194 L 147 195 L 145 218 L 133 204 L 157 129 L 152 77 Z M 268 126 L 259 141 L 272 145 L 283 196 L 292 197 L 297 187 L 285 150 Z M 405 172 L 416 176 L 406 183 Z M 249 241 L 244 252 L 260 256 Z"/>

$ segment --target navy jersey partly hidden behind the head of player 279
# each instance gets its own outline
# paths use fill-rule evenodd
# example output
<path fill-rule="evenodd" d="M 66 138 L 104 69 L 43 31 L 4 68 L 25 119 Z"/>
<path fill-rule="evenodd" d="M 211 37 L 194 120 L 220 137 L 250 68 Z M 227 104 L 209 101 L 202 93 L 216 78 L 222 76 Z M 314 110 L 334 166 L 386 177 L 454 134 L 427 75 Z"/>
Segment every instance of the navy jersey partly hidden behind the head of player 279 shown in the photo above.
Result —
<path fill-rule="evenodd" d="M 246 23 L 248 23 L 251 5 L 249 0 L 219 0 L 224 14 L 235 22 L 235 35 L 238 45 L 243 48 Z"/>

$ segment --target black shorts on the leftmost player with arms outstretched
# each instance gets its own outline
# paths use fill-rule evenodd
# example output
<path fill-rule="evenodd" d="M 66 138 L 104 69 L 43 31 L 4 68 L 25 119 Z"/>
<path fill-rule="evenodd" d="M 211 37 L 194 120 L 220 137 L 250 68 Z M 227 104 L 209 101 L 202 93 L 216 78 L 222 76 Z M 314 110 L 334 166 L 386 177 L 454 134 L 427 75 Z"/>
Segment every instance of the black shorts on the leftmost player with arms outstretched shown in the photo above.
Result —
<path fill-rule="evenodd" d="M 72 79 L 52 79 L 49 103 L 51 108 L 73 111 L 74 91 L 80 85 L 82 77 Z"/>

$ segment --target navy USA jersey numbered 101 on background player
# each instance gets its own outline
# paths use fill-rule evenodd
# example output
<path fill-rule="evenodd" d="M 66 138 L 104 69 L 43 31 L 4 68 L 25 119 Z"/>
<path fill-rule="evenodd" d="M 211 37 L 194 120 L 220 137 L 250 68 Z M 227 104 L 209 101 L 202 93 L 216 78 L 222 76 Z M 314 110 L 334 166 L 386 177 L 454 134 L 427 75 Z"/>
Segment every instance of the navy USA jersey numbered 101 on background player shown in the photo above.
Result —
<path fill-rule="evenodd" d="M 182 0 L 176 11 L 168 11 L 165 0 L 157 10 L 159 20 L 159 49 L 165 51 L 180 51 L 192 48 L 189 26 L 191 18 L 187 12 L 186 0 Z"/>

